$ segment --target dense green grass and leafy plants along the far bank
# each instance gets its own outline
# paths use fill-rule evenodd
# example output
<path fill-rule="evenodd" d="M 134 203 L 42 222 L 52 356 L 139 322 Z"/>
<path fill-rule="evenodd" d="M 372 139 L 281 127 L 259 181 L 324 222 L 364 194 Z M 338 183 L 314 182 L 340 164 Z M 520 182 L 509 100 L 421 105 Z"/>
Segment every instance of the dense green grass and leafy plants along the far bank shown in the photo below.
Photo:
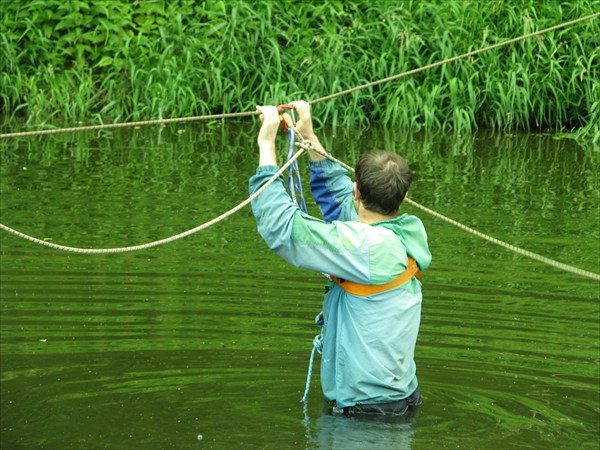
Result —
<path fill-rule="evenodd" d="M 6 1 L 3 128 L 18 115 L 37 127 L 316 99 L 598 11 L 600 0 Z M 594 18 L 323 102 L 316 115 L 600 142 L 599 61 Z"/>

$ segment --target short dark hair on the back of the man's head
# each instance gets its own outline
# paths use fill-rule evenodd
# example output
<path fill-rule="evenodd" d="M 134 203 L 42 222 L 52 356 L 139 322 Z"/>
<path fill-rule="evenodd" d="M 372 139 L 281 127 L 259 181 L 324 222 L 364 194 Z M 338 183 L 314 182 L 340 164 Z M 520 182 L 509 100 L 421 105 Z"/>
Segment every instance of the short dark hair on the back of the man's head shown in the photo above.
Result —
<path fill-rule="evenodd" d="M 372 150 L 358 160 L 355 180 L 364 207 L 389 216 L 398 212 L 412 182 L 412 175 L 400 155 Z"/>

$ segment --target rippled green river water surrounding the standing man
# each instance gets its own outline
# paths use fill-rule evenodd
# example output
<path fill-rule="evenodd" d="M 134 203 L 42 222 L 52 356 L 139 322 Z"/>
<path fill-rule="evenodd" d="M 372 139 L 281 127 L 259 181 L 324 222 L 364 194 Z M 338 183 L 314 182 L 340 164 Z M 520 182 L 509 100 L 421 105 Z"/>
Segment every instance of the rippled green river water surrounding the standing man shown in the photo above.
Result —
<path fill-rule="evenodd" d="M 256 131 L 0 141 L 1 222 L 78 247 L 180 233 L 246 199 Z M 598 153 L 543 135 L 322 134 L 350 164 L 367 148 L 404 154 L 411 197 L 429 208 L 600 272 Z M 299 403 L 323 278 L 273 255 L 249 207 L 116 255 L 2 232 L 0 447 L 599 448 L 598 282 L 405 210 L 423 219 L 434 260 L 416 352 L 424 404 L 395 420 L 328 415 L 318 370 Z"/>

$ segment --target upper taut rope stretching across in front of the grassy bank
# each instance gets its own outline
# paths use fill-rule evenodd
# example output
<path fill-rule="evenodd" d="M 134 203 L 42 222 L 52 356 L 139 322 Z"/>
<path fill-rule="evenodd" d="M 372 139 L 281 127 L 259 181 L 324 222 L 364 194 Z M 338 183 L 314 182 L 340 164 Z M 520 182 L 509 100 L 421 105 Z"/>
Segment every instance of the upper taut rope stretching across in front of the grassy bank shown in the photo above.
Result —
<path fill-rule="evenodd" d="M 340 91 L 337 93 L 333 93 L 330 95 L 327 95 L 325 97 L 320 97 L 317 98 L 315 100 L 311 100 L 309 101 L 309 103 L 311 104 L 315 104 L 315 103 L 321 103 L 324 102 L 326 100 L 331 100 L 333 98 L 336 97 L 340 97 L 342 95 L 346 95 L 346 94 L 350 94 L 352 92 L 356 92 L 356 91 L 360 91 L 362 89 L 367 89 L 373 86 L 377 86 L 381 83 L 387 83 L 389 81 L 394 81 L 394 80 L 398 80 L 400 78 L 404 78 L 407 77 L 409 75 L 414 75 L 416 73 L 419 72 L 423 72 L 425 70 L 429 70 L 432 69 L 434 67 L 439 67 L 441 65 L 444 64 L 448 64 L 454 61 L 458 61 L 459 59 L 465 59 L 465 58 L 469 58 L 475 55 L 479 55 L 480 53 L 484 53 L 490 50 L 495 50 L 497 48 L 500 47 L 504 47 L 506 45 L 510 45 L 510 44 L 514 44 L 516 42 L 525 40 L 525 39 L 529 39 L 535 36 L 540 36 L 542 34 L 545 33 L 549 33 L 551 31 L 556 31 L 559 30 L 561 28 L 565 28 L 571 25 L 575 25 L 577 23 L 586 21 L 586 20 L 590 20 L 590 19 L 594 19 L 596 17 L 600 16 L 600 13 L 595 13 L 595 14 L 590 14 L 589 16 L 585 16 L 585 17 L 580 17 L 578 19 L 574 19 L 574 20 L 570 20 L 568 22 L 563 22 L 561 24 L 558 25 L 554 25 L 548 28 L 544 28 L 543 30 L 539 30 L 539 31 L 534 31 L 532 33 L 529 34 L 525 34 L 513 39 L 509 39 L 506 41 L 502 41 L 502 42 L 498 42 L 496 44 L 492 44 L 489 45 L 487 47 L 484 48 L 480 48 L 478 50 L 474 50 L 471 52 L 467 52 L 467 53 L 463 53 L 462 55 L 459 56 L 454 56 L 452 58 L 448 58 L 448 59 L 444 59 L 442 61 L 438 61 L 436 63 L 433 64 L 428 64 L 426 66 L 422 66 L 419 67 L 417 69 L 413 69 L 413 70 L 409 70 L 407 72 L 403 72 L 397 75 L 392 75 L 390 77 L 387 78 L 382 78 L 380 80 L 377 81 L 373 81 L 370 83 L 365 83 L 363 85 L 351 88 L 351 89 L 346 89 L 344 91 Z M 124 122 L 124 123 L 111 123 L 111 124 L 101 124 L 101 125 L 89 125 L 89 126 L 83 126 L 83 127 L 71 127 L 71 128 L 55 128 L 55 129 L 51 129 L 51 130 L 37 130 L 37 131 L 22 131 L 22 132 L 18 132 L 18 133 L 4 133 L 4 134 L 0 134 L 0 139 L 7 139 L 7 138 L 13 138 L 13 137 L 23 137 L 23 136 L 40 136 L 40 135 L 44 135 L 44 134 L 58 134 L 58 133 L 70 133 L 70 132 L 76 132 L 76 131 L 95 131 L 95 130 L 105 130 L 105 129 L 110 129 L 110 128 L 124 128 L 124 127 L 135 127 L 135 126 L 143 126 L 143 125 L 159 125 L 159 124 L 170 124 L 170 123 L 181 123 L 181 122 L 192 122 L 192 121 L 199 121 L 199 120 L 215 120 L 215 119 L 231 119 L 231 118 L 237 118 L 237 117 L 247 117 L 247 116 L 254 116 L 254 115 L 258 115 L 260 114 L 258 111 L 247 111 L 247 112 L 239 112 L 239 113 L 225 113 L 225 114 L 211 114 L 211 115 L 203 115 L 203 116 L 193 116 L 193 117 L 179 117 L 179 118 L 172 118 L 172 119 L 155 119 L 155 120 L 142 120 L 142 121 L 138 121 L 138 122 Z"/>

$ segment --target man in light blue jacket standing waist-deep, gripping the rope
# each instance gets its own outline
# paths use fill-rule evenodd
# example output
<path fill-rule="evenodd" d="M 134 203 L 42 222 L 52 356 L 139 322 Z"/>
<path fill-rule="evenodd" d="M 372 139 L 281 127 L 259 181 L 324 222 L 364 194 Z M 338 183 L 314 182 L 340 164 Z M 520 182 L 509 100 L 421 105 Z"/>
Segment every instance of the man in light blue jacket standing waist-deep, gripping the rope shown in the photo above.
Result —
<path fill-rule="evenodd" d="M 324 152 L 310 105 L 291 105 L 298 132 Z M 257 109 L 262 125 L 251 194 L 279 169 L 279 111 Z M 332 412 L 404 414 L 421 403 L 414 353 L 420 271 L 431 262 L 421 220 L 398 213 L 412 181 L 409 167 L 395 153 L 370 151 L 359 159 L 353 182 L 339 164 L 309 154 L 311 192 L 323 220 L 302 212 L 280 177 L 252 202 L 258 232 L 290 264 L 331 276 L 318 322 L 321 385 Z"/>

